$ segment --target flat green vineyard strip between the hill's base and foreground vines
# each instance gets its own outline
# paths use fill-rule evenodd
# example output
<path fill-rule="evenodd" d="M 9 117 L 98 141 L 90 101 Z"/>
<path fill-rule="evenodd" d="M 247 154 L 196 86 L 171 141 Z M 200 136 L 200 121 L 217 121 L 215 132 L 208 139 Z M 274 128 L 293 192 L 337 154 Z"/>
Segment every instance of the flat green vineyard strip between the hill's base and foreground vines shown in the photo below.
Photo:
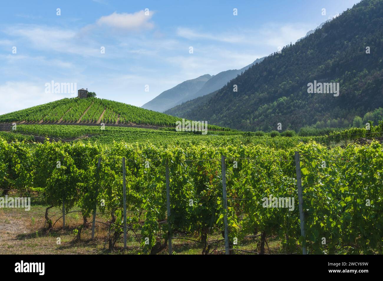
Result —
<path fill-rule="evenodd" d="M 18 124 L 15 131 L 4 132 L 8 139 L 33 140 L 33 136 L 55 137 L 65 140 L 99 143 L 110 145 L 113 142 L 127 142 L 139 144 L 151 143 L 155 145 L 188 145 L 188 144 L 262 144 L 273 148 L 287 148 L 298 145 L 301 141 L 308 142 L 311 137 L 270 137 L 270 136 L 247 136 L 245 132 L 208 131 L 207 135 L 193 134 L 190 132 L 176 132 L 167 128 L 154 130 L 142 128 L 125 128 L 106 125 L 101 126 L 82 125 L 44 125 L 44 124 Z M 80 140 L 77 140 L 80 138 Z"/>

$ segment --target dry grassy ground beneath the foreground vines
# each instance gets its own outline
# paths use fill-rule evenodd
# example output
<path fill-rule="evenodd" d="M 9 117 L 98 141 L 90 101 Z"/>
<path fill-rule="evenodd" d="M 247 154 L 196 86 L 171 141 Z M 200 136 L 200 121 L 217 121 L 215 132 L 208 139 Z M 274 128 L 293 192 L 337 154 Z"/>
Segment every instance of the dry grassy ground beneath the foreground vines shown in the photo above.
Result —
<path fill-rule="evenodd" d="M 80 212 L 69 213 L 65 216 L 66 226 L 62 229 L 62 220 L 57 221 L 51 231 L 46 231 L 44 213 L 46 206 L 32 205 L 31 210 L 21 208 L 0 208 L 0 254 L 139 254 L 141 253 L 141 239 L 139 231 L 136 234 L 128 231 L 128 249 L 123 250 L 122 237 L 116 243 L 115 250 L 108 251 L 108 229 L 105 224 L 96 223 L 95 239 L 91 239 L 92 230 L 89 226 L 82 230 L 81 241 L 75 242 L 74 230 L 78 228 L 83 219 Z M 49 210 L 53 223 L 61 216 L 59 208 Z M 88 218 L 88 221 L 91 220 Z M 97 215 L 98 221 L 107 221 L 107 215 Z M 136 236 L 137 235 L 137 236 Z M 185 237 L 195 239 L 194 237 Z M 61 244 L 57 241 L 60 240 Z M 210 236 L 210 241 L 222 239 L 219 234 Z M 198 239 L 196 239 L 198 240 Z M 239 243 L 240 249 L 254 251 L 259 237 L 249 238 Z M 201 244 L 183 239 L 173 239 L 174 254 L 201 254 Z M 214 244 L 215 246 L 215 244 Z M 211 248 L 213 250 L 214 247 Z M 218 250 L 224 249 L 223 242 L 219 242 Z M 268 239 L 268 248 L 265 252 L 271 254 L 281 253 L 280 241 Z M 220 252 L 223 253 L 223 252 Z M 244 254 L 233 252 L 233 254 Z M 160 254 L 167 254 L 164 249 Z"/>

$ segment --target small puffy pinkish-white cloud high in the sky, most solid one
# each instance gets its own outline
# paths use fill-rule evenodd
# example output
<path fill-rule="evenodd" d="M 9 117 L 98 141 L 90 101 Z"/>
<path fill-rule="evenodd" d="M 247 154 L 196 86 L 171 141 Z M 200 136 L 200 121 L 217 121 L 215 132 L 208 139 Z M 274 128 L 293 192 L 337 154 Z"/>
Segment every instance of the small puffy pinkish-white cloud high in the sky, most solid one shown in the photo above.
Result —
<path fill-rule="evenodd" d="M 101 16 L 97 20 L 97 24 L 100 26 L 108 26 L 124 30 L 140 30 L 140 29 L 151 29 L 154 24 L 149 20 L 152 18 L 153 11 L 149 11 L 149 15 L 145 15 L 143 10 L 133 14 L 128 13 L 116 13 L 109 16 Z"/>

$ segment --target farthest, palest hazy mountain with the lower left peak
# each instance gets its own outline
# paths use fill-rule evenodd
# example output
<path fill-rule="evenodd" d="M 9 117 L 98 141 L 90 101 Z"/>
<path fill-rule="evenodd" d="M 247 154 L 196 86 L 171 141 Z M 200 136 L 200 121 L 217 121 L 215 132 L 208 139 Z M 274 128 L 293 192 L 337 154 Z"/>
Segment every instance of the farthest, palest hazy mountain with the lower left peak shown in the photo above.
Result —
<path fill-rule="evenodd" d="M 200 90 L 210 78 L 210 74 L 205 74 L 198 78 L 184 81 L 172 89 L 162 92 L 150 102 L 142 105 L 142 108 L 159 112 L 172 108 L 179 104 L 180 99 L 198 92 L 198 90 Z"/>

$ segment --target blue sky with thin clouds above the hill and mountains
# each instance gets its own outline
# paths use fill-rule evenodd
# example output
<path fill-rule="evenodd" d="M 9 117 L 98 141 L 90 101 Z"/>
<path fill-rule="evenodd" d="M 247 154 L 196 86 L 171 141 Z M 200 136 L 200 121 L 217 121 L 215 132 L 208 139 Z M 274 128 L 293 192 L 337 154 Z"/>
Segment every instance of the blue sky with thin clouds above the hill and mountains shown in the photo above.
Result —
<path fill-rule="evenodd" d="M 0 114 L 72 97 L 46 93 L 52 80 L 141 106 L 185 80 L 249 65 L 358 2 L 2 1 Z"/>

